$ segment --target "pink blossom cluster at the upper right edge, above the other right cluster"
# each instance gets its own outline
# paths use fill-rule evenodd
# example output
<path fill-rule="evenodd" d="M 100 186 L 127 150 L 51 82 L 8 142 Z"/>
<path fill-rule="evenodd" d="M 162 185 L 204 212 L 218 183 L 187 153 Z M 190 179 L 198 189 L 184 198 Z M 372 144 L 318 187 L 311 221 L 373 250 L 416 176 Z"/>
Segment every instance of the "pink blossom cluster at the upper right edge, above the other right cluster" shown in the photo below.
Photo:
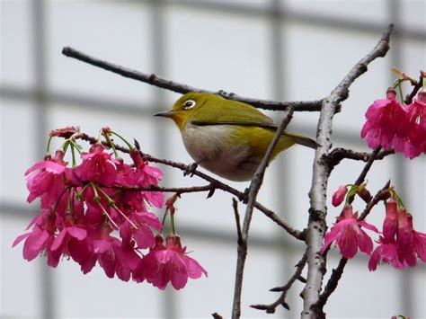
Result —
<path fill-rule="evenodd" d="M 404 105 L 397 101 L 395 89 L 390 88 L 386 99 L 368 107 L 366 118 L 361 137 L 367 137 L 369 147 L 393 148 L 407 158 L 426 153 L 426 92 L 419 92 L 411 104 Z"/>

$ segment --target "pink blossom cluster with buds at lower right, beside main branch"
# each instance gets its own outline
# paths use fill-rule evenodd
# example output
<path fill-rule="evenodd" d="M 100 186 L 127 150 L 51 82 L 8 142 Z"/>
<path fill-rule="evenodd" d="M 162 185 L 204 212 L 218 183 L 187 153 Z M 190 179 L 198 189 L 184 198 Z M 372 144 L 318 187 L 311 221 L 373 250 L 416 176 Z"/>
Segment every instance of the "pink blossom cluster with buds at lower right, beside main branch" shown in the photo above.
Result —
<path fill-rule="evenodd" d="M 350 186 L 351 191 L 348 192 L 347 188 Z M 361 220 L 358 213 L 352 211 L 351 201 L 355 194 L 367 202 L 371 200 L 371 196 L 369 199 L 365 197 L 366 192 L 365 185 L 341 186 L 334 192 L 334 206 L 342 204 L 345 194 L 347 194 L 346 202 L 342 214 L 337 217 L 337 222 L 324 236 L 322 253 L 325 253 L 332 243 L 339 247 L 342 256 L 347 259 L 353 258 L 359 250 L 370 256 L 369 270 L 376 270 L 379 262 L 390 263 L 398 270 L 415 266 L 417 258 L 426 262 L 426 234 L 413 229 L 413 217 L 404 208 L 395 189 L 390 188 L 382 199 L 386 201 L 386 217 L 382 231 L 378 231 L 376 226 Z M 374 251 L 371 237 L 362 228 L 379 234 L 378 246 Z"/>

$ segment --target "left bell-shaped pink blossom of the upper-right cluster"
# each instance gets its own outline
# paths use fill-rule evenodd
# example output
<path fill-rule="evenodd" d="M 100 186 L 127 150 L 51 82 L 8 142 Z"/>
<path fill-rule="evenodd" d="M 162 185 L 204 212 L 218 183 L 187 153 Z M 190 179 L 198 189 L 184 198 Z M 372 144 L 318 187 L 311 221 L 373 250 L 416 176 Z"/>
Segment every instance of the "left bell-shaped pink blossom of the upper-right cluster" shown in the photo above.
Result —
<path fill-rule="evenodd" d="M 383 146 L 391 149 L 409 132 L 407 111 L 395 96 L 395 90 L 387 90 L 386 99 L 377 100 L 368 107 L 367 122 L 361 130 L 361 137 L 367 137 L 367 144 L 371 148 Z"/>

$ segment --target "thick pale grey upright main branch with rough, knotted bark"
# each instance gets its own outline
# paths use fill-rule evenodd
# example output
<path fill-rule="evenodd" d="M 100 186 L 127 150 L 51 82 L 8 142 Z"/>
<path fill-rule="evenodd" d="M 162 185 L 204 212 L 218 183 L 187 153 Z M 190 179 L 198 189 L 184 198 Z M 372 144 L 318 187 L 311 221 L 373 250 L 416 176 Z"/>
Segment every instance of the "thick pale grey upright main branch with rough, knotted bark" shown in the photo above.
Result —
<path fill-rule="evenodd" d="M 302 318 L 305 319 L 321 315 L 315 313 L 313 306 L 318 301 L 325 273 L 324 256 L 320 251 L 326 229 L 326 196 L 329 170 L 324 158 L 328 155 L 331 147 L 333 116 L 339 109 L 342 101 L 348 98 L 351 84 L 367 71 L 368 64 L 376 58 L 386 56 L 389 49 L 390 34 L 393 29 L 394 26 L 392 24 L 389 25 L 376 47 L 353 66 L 342 82 L 323 100 L 322 111 L 316 130 L 316 142 L 320 147 L 315 152 L 312 187 L 311 191 L 309 191 L 311 207 L 309 208 L 309 221 L 306 229 L 307 277 L 305 288 L 302 291 L 304 299 Z"/>

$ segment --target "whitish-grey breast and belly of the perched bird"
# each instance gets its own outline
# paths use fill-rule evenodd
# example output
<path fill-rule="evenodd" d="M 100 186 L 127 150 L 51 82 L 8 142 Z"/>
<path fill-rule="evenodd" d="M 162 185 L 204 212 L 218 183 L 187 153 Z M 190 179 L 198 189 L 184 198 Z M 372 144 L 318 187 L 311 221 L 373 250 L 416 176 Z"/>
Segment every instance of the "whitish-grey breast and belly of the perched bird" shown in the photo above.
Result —
<path fill-rule="evenodd" d="M 235 126 L 196 126 L 188 122 L 182 139 L 200 166 L 232 181 L 250 180 L 262 160 L 253 157 L 250 147 L 235 137 Z"/>

